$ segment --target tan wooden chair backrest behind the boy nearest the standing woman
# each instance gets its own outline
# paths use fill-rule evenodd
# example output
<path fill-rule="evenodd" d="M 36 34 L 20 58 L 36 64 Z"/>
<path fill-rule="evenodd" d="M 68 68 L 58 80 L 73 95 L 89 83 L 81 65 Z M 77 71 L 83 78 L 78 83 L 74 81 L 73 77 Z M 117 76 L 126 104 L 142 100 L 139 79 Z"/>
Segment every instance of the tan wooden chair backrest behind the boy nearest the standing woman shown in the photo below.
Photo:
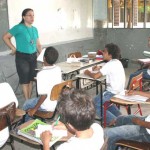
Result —
<path fill-rule="evenodd" d="M 73 80 L 66 80 L 66 81 L 63 81 L 59 84 L 56 84 L 55 86 L 53 86 L 52 90 L 51 90 L 51 96 L 50 96 L 50 99 L 51 100 L 58 100 L 59 98 L 59 95 L 61 93 L 61 90 L 62 88 L 66 85 L 66 86 L 69 86 L 69 87 L 72 87 L 72 82 Z"/>

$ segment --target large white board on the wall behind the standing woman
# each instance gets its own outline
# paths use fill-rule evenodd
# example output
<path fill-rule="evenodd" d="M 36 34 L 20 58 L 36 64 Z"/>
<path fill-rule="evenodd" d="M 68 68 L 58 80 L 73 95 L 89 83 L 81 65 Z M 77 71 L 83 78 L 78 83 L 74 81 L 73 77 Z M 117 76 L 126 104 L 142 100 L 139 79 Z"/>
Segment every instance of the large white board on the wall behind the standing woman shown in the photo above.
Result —
<path fill-rule="evenodd" d="M 10 28 L 26 8 L 34 10 L 42 45 L 93 38 L 92 0 L 8 0 Z"/>

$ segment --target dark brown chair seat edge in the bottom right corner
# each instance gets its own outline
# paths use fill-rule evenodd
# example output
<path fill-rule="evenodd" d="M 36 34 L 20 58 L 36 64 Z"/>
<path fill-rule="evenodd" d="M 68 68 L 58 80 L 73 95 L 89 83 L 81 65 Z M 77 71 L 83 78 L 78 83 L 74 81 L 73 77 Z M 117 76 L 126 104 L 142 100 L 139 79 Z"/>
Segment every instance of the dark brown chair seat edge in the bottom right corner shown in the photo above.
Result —
<path fill-rule="evenodd" d="M 149 142 L 138 142 L 133 140 L 118 140 L 117 147 L 128 147 L 135 150 L 150 150 Z"/>

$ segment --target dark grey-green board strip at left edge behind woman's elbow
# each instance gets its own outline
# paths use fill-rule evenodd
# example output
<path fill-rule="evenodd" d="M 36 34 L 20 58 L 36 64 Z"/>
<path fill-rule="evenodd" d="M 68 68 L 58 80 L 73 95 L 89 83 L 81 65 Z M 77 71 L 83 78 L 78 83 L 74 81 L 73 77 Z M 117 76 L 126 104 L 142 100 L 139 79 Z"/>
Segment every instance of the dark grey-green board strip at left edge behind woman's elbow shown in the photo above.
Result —
<path fill-rule="evenodd" d="M 3 52 L 8 49 L 5 43 L 2 40 L 3 34 L 8 30 L 8 9 L 7 9 L 7 0 L 0 0 L 0 52 Z"/>

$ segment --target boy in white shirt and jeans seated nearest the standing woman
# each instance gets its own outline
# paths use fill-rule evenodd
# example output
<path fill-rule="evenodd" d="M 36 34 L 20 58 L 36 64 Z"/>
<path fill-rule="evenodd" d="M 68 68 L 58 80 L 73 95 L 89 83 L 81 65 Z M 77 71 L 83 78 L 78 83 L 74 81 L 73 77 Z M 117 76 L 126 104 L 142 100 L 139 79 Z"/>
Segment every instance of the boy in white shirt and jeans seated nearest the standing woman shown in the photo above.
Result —
<path fill-rule="evenodd" d="M 37 91 L 40 96 L 24 103 L 23 110 L 28 112 L 25 121 L 31 119 L 37 110 L 55 110 L 57 101 L 50 100 L 50 93 L 53 86 L 62 81 L 61 69 L 55 65 L 58 55 L 58 51 L 54 47 L 46 48 L 43 69 L 37 74 Z"/>

